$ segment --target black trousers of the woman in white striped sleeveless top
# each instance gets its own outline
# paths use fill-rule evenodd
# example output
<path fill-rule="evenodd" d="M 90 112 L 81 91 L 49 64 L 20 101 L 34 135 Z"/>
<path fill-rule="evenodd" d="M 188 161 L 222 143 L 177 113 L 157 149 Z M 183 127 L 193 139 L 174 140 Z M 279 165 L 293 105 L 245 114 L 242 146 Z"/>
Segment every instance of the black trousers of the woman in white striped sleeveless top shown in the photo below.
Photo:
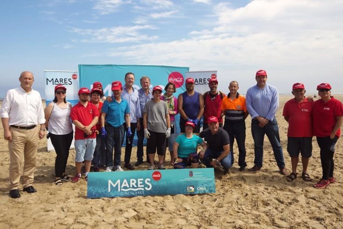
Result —
<path fill-rule="evenodd" d="M 51 143 L 55 148 L 56 160 L 55 160 L 55 176 L 62 177 L 66 172 L 67 161 L 69 157 L 69 149 L 73 141 L 73 132 L 68 134 L 52 134 L 50 133 Z"/>

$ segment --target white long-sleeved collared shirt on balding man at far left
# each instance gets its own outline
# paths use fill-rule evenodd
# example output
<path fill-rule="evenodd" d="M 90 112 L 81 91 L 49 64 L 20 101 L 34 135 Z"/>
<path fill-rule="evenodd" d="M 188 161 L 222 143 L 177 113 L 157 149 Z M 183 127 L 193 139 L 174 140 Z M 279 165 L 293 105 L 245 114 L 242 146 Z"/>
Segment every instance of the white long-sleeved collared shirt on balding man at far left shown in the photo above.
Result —
<path fill-rule="evenodd" d="M 2 101 L 0 116 L 8 118 L 9 125 L 44 124 L 42 98 L 39 92 L 31 90 L 26 93 L 21 87 L 8 90 Z"/>

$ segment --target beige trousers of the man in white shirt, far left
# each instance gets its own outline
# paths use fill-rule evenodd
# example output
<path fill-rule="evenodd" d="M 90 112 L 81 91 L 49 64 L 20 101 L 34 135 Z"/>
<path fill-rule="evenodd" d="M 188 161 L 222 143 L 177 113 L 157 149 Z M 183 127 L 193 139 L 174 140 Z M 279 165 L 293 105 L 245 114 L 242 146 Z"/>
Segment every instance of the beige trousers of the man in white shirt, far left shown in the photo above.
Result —
<path fill-rule="evenodd" d="M 9 127 L 12 134 L 12 142 L 8 142 L 9 190 L 18 188 L 21 174 L 24 188 L 33 183 L 39 128 L 39 125 L 28 130 Z"/>

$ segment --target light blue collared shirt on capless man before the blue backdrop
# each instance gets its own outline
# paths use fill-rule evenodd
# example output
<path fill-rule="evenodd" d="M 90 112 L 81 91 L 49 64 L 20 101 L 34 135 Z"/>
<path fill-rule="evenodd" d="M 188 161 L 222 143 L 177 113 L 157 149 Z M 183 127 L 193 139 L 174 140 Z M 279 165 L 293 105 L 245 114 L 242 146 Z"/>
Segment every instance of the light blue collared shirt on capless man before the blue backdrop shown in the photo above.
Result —
<path fill-rule="evenodd" d="M 131 120 L 131 122 L 136 123 L 137 118 L 142 117 L 142 113 L 141 113 L 141 109 L 140 109 L 140 105 L 139 105 L 138 91 L 132 87 L 132 92 L 130 94 L 128 92 L 128 90 L 126 89 L 126 86 L 124 85 L 123 91 L 121 93 L 121 98 L 123 98 L 124 100 L 126 100 L 129 103 L 130 120 Z"/>

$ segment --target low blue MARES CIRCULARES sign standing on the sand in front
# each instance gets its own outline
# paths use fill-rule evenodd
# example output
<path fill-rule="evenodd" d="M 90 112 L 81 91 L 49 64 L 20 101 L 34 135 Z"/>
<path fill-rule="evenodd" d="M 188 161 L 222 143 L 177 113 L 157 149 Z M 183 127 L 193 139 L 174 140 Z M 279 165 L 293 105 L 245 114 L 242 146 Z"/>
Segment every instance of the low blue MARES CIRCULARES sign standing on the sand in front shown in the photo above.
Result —
<path fill-rule="evenodd" d="M 87 198 L 215 193 L 213 168 L 89 172 Z"/>

